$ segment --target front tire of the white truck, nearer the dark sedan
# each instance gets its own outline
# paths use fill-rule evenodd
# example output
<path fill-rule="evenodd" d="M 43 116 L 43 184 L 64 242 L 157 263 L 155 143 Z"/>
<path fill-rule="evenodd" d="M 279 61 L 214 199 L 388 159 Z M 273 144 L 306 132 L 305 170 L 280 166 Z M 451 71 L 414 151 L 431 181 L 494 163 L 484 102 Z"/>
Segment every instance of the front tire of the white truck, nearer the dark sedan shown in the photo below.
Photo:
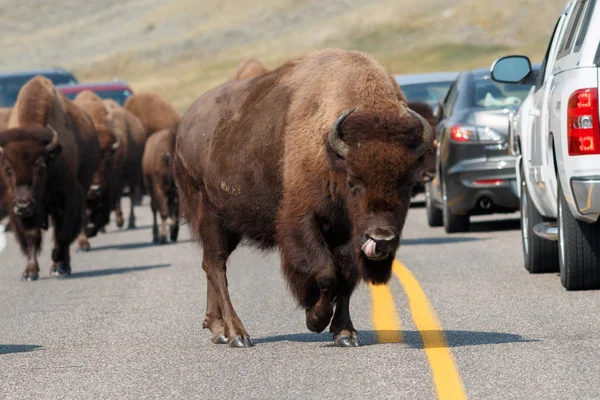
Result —
<path fill-rule="evenodd" d="M 525 269 L 532 274 L 559 271 L 558 242 L 538 237 L 533 233 L 536 224 L 546 221 L 531 202 L 521 171 L 521 242 Z"/>

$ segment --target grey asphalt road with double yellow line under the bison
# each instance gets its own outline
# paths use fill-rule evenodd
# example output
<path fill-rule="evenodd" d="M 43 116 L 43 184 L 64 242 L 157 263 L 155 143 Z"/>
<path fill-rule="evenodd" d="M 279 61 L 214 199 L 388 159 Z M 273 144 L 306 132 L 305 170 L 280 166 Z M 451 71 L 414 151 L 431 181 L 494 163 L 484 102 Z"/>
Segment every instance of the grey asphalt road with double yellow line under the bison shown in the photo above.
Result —
<path fill-rule="evenodd" d="M 185 227 L 179 243 L 152 245 L 144 204 L 138 229 L 111 225 L 73 253 L 67 279 L 49 277 L 46 235 L 41 279 L 21 282 L 7 234 L 1 399 L 600 398 L 600 292 L 528 275 L 518 215 L 447 235 L 413 208 L 389 290 L 352 298 L 359 348 L 308 332 L 278 254 L 241 247 L 229 285 L 255 346 L 232 349 L 202 330 L 201 250 Z"/>

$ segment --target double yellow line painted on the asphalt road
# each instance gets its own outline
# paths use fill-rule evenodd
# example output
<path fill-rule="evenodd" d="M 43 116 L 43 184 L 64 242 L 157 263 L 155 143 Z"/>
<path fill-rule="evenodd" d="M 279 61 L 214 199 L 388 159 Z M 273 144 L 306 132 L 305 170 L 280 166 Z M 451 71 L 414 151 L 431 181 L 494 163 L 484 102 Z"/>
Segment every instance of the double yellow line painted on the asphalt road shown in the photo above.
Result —
<path fill-rule="evenodd" d="M 423 340 L 438 398 L 466 399 L 443 329 L 425 292 L 408 268 L 399 261 L 394 261 L 393 271 L 408 297 L 412 318 Z M 380 343 L 401 342 L 400 319 L 389 286 L 370 285 L 370 288 L 373 303 L 373 326 L 377 332 L 378 341 Z"/>

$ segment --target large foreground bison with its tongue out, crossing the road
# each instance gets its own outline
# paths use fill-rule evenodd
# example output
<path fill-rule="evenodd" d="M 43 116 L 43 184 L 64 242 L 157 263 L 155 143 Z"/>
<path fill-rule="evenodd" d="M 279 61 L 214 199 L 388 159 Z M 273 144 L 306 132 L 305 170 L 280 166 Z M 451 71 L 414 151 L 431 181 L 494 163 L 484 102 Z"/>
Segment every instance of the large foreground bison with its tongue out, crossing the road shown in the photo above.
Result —
<path fill-rule="evenodd" d="M 354 51 L 324 50 L 202 95 L 177 130 L 181 212 L 203 245 L 215 343 L 251 345 L 226 261 L 244 238 L 278 246 L 306 325 L 357 346 L 350 296 L 386 283 L 431 127 L 389 75 Z M 335 308 L 335 310 L 334 310 Z"/>

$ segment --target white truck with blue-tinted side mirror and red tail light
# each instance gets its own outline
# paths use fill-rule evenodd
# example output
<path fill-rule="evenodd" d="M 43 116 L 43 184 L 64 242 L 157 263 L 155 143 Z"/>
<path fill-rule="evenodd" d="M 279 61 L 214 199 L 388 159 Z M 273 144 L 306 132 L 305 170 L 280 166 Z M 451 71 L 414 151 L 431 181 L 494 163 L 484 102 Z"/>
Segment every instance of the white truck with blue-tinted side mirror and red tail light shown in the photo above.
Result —
<path fill-rule="evenodd" d="M 571 0 L 539 73 L 524 56 L 492 65 L 498 82 L 534 88 L 511 129 L 525 268 L 560 271 L 568 290 L 600 289 L 600 7 Z"/>

